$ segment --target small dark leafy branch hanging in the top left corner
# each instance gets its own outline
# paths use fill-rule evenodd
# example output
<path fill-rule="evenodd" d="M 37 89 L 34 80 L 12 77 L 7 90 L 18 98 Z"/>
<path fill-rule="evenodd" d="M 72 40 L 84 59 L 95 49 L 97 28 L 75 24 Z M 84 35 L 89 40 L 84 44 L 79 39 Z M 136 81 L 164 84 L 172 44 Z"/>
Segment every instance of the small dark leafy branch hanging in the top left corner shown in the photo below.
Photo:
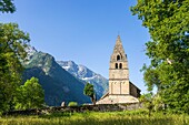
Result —
<path fill-rule="evenodd" d="M 14 12 L 16 7 L 12 3 L 12 0 L 0 0 L 0 12 Z"/>

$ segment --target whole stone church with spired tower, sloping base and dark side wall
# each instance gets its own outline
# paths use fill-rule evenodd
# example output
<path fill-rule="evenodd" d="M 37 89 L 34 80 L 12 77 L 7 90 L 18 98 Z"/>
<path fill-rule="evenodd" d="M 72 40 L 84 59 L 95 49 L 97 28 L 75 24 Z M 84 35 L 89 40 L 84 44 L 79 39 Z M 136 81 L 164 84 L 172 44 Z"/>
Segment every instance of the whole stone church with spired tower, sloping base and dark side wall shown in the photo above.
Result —
<path fill-rule="evenodd" d="M 139 103 L 140 90 L 129 81 L 129 67 L 118 35 L 109 67 L 109 92 L 97 104 Z"/>

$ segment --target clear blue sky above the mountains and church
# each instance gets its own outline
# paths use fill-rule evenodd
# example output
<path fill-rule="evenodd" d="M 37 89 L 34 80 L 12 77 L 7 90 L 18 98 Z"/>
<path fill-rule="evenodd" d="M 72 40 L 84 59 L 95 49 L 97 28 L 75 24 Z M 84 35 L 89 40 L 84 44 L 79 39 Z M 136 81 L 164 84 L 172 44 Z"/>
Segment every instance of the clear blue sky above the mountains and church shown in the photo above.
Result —
<path fill-rule="evenodd" d="M 140 69 L 148 63 L 148 29 L 129 8 L 137 0 L 14 0 L 17 11 L 0 22 L 17 22 L 31 45 L 56 60 L 72 60 L 108 79 L 109 61 L 120 34 L 128 55 L 130 81 L 146 91 Z"/>

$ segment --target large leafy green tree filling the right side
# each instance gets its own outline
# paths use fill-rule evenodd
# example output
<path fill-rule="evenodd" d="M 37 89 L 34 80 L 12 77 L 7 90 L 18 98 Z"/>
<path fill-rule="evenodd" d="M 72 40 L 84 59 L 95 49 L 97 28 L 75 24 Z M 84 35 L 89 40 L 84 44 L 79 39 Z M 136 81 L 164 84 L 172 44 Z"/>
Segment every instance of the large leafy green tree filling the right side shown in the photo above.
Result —
<path fill-rule="evenodd" d="M 177 113 L 189 113 L 188 7 L 188 0 L 138 0 L 131 7 L 151 35 L 146 43 L 151 63 L 142 69 L 148 91 L 157 86 L 163 103 Z"/>

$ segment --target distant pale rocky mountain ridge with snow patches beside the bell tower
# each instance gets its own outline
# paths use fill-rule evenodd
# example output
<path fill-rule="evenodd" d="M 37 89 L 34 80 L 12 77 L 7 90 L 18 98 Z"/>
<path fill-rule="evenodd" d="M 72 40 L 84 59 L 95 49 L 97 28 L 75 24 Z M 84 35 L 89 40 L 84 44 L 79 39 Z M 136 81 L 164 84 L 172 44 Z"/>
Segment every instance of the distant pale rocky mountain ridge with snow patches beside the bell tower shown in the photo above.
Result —
<path fill-rule="evenodd" d="M 93 84 L 98 98 L 101 97 L 108 90 L 108 80 L 89 70 L 83 65 L 78 65 L 73 61 L 57 61 L 66 71 L 77 79 Z"/>

